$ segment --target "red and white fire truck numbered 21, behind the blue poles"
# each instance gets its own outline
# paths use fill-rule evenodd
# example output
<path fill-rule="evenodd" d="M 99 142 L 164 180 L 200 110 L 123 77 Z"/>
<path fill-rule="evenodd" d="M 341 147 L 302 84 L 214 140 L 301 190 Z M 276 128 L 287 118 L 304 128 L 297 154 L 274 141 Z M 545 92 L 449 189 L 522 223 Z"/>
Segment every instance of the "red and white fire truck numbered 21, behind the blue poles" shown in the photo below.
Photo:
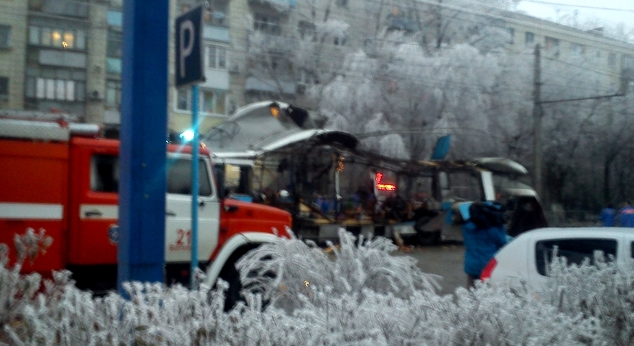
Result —
<path fill-rule="evenodd" d="M 0 243 L 44 229 L 53 243 L 23 271 L 50 275 L 69 269 L 79 288 L 114 288 L 117 281 L 119 140 L 100 138 L 97 125 L 0 116 Z M 290 213 L 225 199 L 209 151 L 200 149 L 198 260 L 209 280 L 230 284 L 235 261 L 277 236 L 288 236 Z M 191 262 L 191 147 L 167 145 L 165 277 L 189 282 Z M 14 260 L 14 259 L 13 259 Z"/>

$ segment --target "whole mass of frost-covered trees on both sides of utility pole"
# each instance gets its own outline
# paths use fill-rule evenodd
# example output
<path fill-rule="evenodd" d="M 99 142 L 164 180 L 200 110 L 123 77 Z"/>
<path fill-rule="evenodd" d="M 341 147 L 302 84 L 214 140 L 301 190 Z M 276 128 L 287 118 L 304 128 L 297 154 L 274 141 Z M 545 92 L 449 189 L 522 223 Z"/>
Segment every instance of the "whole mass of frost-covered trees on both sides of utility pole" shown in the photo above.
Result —
<path fill-rule="evenodd" d="M 368 149 L 427 159 L 451 134 L 450 158 L 505 156 L 531 169 L 535 55 L 533 47 L 504 49 L 510 36 L 500 14 L 515 3 L 298 0 L 277 9 L 297 28 L 286 27 L 273 48 L 254 35 L 247 55 L 273 97 L 317 110 Z M 622 162 L 632 160 L 632 97 L 598 97 L 620 90 L 596 71 L 605 57 L 553 54 L 542 51 L 541 101 L 576 101 L 538 105 L 543 200 L 598 210 L 630 199 L 634 172 Z M 292 85 L 304 93 L 287 94 Z"/>

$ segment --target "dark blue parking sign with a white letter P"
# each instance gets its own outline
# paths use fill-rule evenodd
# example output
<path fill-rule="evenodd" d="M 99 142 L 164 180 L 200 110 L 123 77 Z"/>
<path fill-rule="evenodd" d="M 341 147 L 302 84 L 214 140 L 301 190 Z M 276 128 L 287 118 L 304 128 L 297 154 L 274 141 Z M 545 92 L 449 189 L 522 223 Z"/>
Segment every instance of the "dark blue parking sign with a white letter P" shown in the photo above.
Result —
<path fill-rule="evenodd" d="M 204 82 L 202 6 L 176 18 L 176 87 Z"/>

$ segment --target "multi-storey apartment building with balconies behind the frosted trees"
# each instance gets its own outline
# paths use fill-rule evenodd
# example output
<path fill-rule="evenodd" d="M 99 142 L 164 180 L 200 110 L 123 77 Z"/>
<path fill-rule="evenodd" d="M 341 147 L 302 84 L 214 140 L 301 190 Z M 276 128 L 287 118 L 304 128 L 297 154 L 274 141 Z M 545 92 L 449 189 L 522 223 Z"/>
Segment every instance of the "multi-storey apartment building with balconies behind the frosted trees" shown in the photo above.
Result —
<path fill-rule="evenodd" d="M 123 1 L 0 0 L 0 110 L 61 111 L 116 127 L 121 92 L 125 92 Z M 321 42 L 327 59 L 312 69 L 328 71 L 345 53 L 369 49 L 368 40 L 379 30 L 377 23 L 380 29 L 422 32 L 423 40 L 433 42 L 441 30 L 441 25 L 433 25 L 433 18 L 440 23 L 443 15 L 442 8 L 432 3 L 416 8 L 385 5 L 373 8 L 377 16 L 368 18 L 360 10 L 368 6 L 363 0 L 335 0 L 328 9 L 310 8 L 296 0 L 169 0 L 168 126 L 177 132 L 191 125 L 191 88 L 174 87 L 174 20 L 203 4 L 202 132 L 246 103 L 271 97 L 301 103 L 305 86 L 320 80 L 315 71 L 291 66 L 284 57 L 299 49 L 296 38 L 315 35 L 315 23 L 323 18 L 351 23 L 346 34 Z M 634 45 L 607 38 L 600 30 L 584 32 L 511 12 L 491 15 L 492 25 L 508 29 L 507 49 L 521 51 L 539 43 L 551 58 L 573 52 L 593 55 L 601 62 L 595 68 L 611 76 L 605 88 L 622 90 L 621 86 L 634 83 Z M 421 27 L 421 23 L 432 25 Z M 267 47 L 270 61 L 246 57 L 245 52 L 257 45 Z"/>

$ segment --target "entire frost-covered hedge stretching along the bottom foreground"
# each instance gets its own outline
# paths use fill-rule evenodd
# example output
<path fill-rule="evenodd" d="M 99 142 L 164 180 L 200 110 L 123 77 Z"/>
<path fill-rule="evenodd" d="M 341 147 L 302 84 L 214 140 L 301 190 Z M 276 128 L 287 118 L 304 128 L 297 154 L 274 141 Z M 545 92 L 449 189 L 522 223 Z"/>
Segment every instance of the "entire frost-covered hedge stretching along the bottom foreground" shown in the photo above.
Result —
<path fill-rule="evenodd" d="M 388 240 L 340 240 L 332 253 L 280 239 L 248 254 L 239 269 L 253 291 L 229 312 L 225 282 L 130 282 L 129 299 L 92 297 L 68 271 L 41 280 L 3 260 L 0 345 L 633 344 L 634 277 L 610 262 L 555 261 L 556 284 L 540 295 L 478 284 L 441 296 Z"/>

